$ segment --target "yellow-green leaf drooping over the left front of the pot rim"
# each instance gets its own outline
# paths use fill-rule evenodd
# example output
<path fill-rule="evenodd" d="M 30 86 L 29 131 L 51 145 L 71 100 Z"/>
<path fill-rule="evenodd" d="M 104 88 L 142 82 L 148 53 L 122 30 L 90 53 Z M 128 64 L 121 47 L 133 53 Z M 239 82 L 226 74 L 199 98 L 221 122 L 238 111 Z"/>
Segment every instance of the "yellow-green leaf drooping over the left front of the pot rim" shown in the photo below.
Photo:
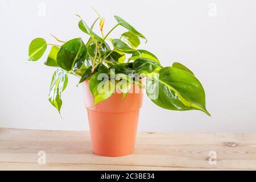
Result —
<path fill-rule="evenodd" d="M 98 77 L 99 76 L 99 77 Z M 105 73 L 95 73 L 89 82 L 90 92 L 94 97 L 94 103 L 91 107 L 112 96 L 115 85 L 109 80 Z"/>

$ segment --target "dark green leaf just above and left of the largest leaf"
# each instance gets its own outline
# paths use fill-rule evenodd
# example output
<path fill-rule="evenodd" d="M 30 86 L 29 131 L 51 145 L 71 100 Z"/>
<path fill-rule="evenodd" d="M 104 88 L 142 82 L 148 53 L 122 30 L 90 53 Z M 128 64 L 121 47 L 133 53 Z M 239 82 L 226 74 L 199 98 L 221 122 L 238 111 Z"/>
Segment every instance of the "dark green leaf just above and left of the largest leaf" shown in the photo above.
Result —
<path fill-rule="evenodd" d="M 133 62 L 133 68 L 138 74 L 147 74 L 155 71 L 160 65 L 154 60 L 147 58 L 138 58 Z"/>

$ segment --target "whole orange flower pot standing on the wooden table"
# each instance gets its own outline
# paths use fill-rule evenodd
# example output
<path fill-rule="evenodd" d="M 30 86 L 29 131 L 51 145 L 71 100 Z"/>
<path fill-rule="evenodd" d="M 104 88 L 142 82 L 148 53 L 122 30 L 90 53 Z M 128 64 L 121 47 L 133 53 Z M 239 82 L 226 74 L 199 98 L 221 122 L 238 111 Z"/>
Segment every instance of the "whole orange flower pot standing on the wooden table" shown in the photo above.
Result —
<path fill-rule="evenodd" d="M 93 152 L 102 156 L 123 156 L 134 151 L 139 109 L 143 93 L 137 84 L 122 101 L 122 93 L 114 93 L 107 100 L 87 109 Z M 89 90 L 89 81 L 83 83 L 86 108 L 92 106 L 94 98 Z"/>

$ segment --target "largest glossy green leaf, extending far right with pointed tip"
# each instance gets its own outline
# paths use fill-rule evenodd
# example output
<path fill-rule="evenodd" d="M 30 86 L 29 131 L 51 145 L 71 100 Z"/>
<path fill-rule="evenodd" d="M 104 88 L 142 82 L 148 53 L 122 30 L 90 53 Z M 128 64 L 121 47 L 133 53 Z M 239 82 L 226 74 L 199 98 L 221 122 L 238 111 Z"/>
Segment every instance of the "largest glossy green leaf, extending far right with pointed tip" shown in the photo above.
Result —
<path fill-rule="evenodd" d="M 170 110 L 201 110 L 205 108 L 203 86 L 191 73 L 166 67 L 147 78 L 146 92 L 158 106 Z"/>

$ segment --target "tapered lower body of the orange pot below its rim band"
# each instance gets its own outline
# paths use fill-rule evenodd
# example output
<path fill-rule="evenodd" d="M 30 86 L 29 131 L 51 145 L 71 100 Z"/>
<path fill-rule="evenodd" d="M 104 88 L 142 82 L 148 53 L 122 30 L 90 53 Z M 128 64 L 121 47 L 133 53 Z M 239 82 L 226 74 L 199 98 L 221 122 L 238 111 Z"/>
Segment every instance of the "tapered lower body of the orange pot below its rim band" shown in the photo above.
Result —
<path fill-rule="evenodd" d="M 139 110 L 102 113 L 88 109 L 88 117 L 94 153 L 112 157 L 133 153 Z"/>

